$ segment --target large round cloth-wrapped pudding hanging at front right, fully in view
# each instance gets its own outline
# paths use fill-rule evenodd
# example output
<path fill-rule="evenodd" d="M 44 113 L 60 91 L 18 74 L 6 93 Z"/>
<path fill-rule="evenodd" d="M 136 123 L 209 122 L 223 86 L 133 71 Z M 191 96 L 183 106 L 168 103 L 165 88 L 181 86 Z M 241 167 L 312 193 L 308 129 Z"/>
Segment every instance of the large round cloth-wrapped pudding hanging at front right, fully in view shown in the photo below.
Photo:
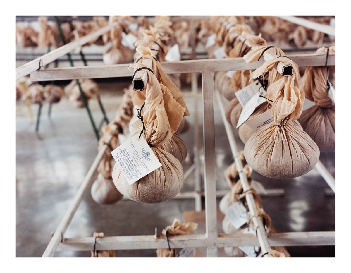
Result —
<path fill-rule="evenodd" d="M 292 121 L 302 113 L 305 94 L 298 89 L 298 68 L 290 58 L 280 56 L 266 61 L 251 78 L 272 71 L 278 62 L 293 67 L 292 76 L 271 83 L 275 89 L 272 103 L 272 123 L 257 129 L 245 144 L 245 158 L 258 173 L 277 179 L 299 177 L 316 165 L 319 159 L 317 144 Z"/>

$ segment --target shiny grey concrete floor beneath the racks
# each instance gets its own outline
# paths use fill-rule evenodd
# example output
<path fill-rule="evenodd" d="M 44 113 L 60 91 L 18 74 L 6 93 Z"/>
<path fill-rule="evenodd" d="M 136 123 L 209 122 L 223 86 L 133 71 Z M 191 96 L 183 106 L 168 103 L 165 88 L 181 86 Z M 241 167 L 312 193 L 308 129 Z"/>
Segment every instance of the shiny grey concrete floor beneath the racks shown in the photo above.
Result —
<path fill-rule="evenodd" d="M 112 119 L 122 88 L 130 81 L 98 83 L 102 103 Z M 188 86 L 182 90 L 192 111 L 195 98 L 187 95 Z M 26 107 L 19 104 L 16 110 L 16 257 L 41 257 L 51 232 L 59 225 L 97 154 L 97 140 L 84 108 L 77 109 L 62 100 L 53 106 L 49 119 L 47 107 L 43 106 L 39 133 L 35 133 L 34 124 L 29 124 Z M 90 101 L 90 107 L 95 121 L 100 122 L 102 115 L 97 102 Z M 32 106 L 34 120 L 37 108 L 37 105 Z M 187 118 L 191 124 L 192 118 Z M 215 123 L 217 189 L 228 189 L 223 172 L 232 161 L 232 155 L 218 107 L 215 107 Z M 188 147 L 188 158 L 183 165 L 186 171 L 193 158 L 192 127 L 182 137 Z M 242 149 L 244 145 L 237 134 L 236 138 Z M 335 176 L 335 154 L 321 154 L 320 160 Z M 263 207 L 278 232 L 335 231 L 335 196 L 324 195 L 328 185 L 317 171 L 289 180 L 269 179 L 254 172 L 253 179 L 261 181 L 266 188 L 286 191 L 284 197 L 263 198 Z M 192 189 L 193 176 L 190 175 L 182 191 Z M 183 211 L 193 209 L 193 200 L 170 200 L 161 204 L 124 200 L 114 205 L 99 205 L 88 193 L 64 236 L 86 237 L 92 236 L 94 231 L 104 232 L 105 236 L 153 234 L 155 227 L 161 231 L 174 218 L 182 219 Z M 222 232 L 220 226 L 218 231 Z M 335 247 L 289 247 L 288 250 L 292 257 L 335 257 Z M 115 253 L 116 257 L 156 257 L 154 249 Z M 59 252 L 55 257 L 90 257 L 90 252 Z"/>

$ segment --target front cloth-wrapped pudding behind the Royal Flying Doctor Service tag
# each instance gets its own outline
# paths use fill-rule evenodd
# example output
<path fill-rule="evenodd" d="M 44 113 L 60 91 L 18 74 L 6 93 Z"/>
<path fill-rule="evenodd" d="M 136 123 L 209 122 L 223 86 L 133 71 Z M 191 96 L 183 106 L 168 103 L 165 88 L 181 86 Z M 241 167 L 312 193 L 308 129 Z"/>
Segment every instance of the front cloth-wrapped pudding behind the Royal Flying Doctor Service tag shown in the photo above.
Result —
<path fill-rule="evenodd" d="M 170 89 L 160 84 L 152 72 L 147 69 L 145 71 L 145 106 L 141 111 L 145 124 L 143 136 L 162 166 L 132 185 L 128 184 L 117 164 L 113 168 L 112 177 L 117 189 L 128 198 L 142 203 L 160 203 L 176 196 L 183 185 L 181 163 L 160 146 L 177 131 L 186 108 L 173 98 Z M 142 126 L 139 132 L 141 131 Z"/>

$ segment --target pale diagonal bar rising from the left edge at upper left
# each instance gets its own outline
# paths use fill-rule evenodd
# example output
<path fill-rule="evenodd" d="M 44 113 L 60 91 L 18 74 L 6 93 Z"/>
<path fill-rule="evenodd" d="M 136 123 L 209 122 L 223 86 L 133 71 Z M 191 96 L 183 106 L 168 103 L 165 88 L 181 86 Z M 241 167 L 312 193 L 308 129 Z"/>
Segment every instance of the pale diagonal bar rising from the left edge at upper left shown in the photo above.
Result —
<path fill-rule="evenodd" d="M 81 38 L 79 38 L 75 41 L 72 41 L 66 45 L 58 47 L 58 48 L 54 49 L 53 51 L 51 51 L 47 54 L 44 54 L 44 55 L 40 56 L 39 58 L 34 59 L 33 61 L 30 61 L 30 62 L 27 62 L 26 64 L 16 68 L 16 80 L 18 80 L 24 76 L 29 75 L 33 71 L 38 70 L 39 68 L 44 67 L 47 64 L 50 64 L 54 60 L 73 51 L 77 47 L 83 46 L 86 43 L 96 39 L 97 37 L 108 32 L 111 28 L 117 26 L 118 24 L 119 24 L 119 22 L 114 22 L 112 24 L 104 26 L 95 32 L 92 32 L 88 35 L 82 36 Z"/>

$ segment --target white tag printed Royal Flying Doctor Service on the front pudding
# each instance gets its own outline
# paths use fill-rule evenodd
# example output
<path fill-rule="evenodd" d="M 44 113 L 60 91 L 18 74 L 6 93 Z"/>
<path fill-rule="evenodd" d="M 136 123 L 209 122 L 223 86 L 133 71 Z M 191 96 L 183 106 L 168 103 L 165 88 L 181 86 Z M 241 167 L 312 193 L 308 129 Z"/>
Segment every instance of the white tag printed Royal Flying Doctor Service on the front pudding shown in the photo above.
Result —
<path fill-rule="evenodd" d="M 162 166 L 144 137 L 139 139 L 139 135 L 115 148 L 111 154 L 129 185 Z"/>

